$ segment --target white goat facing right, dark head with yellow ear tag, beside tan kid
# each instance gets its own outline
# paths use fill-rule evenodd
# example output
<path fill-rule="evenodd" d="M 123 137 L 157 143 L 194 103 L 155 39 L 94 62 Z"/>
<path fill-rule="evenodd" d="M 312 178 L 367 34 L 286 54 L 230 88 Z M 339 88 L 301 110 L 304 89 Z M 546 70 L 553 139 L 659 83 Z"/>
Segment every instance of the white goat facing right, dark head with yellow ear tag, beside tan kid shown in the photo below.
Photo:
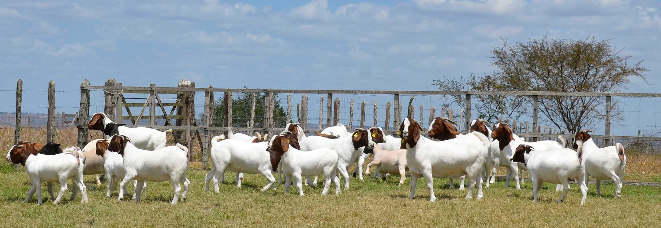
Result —
<path fill-rule="evenodd" d="M 360 156 L 361 147 L 372 149 L 374 143 L 368 130 L 356 128 L 351 137 L 342 137 L 338 139 L 329 139 L 327 137 L 309 136 L 301 143 L 301 151 L 312 151 L 319 148 L 334 148 L 339 156 L 337 164 L 338 171 L 344 177 L 344 190 L 349 189 L 349 173 L 346 168 L 352 165 Z"/>

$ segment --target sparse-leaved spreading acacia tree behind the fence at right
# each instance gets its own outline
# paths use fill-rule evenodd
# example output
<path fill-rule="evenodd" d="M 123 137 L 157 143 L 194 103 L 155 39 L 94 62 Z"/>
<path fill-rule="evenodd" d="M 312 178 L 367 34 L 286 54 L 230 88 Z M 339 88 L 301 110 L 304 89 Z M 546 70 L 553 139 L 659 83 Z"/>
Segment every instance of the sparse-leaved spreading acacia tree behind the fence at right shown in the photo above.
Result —
<path fill-rule="evenodd" d="M 554 92 L 619 92 L 631 85 L 631 79 L 648 71 L 642 61 L 630 63 L 631 56 L 611 46 L 610 40 L 561 40 L 547 38 L 508 44 L 492 48 L 493 75 L 469 81 L 467 89 L 485 91 L 554 91 Z M 436 81 L 446 83 L 446 81 Z M 483 87 L 479 85 L 485 85 Z M 440 86 L 440 89 L 444 87 Z M 527 114 L 527 110 L 512 110 L 515 106 L 531 107 L 531 98 L 483 97 L 481 102 L 496 105 L 493 112 Z M 568 132 L 603 118 L 605 97 L 539 96 L 541 118 Z M 501 106 L 505 104 L 505 106 Z M 518 104 L 518 105 L 517 105 Z M 478 107 L 479 109 L 480 107 Z M 617 117 L 617 105 L 613 105 Z M 487 114 L 492 112 L 486 112 Z"/>

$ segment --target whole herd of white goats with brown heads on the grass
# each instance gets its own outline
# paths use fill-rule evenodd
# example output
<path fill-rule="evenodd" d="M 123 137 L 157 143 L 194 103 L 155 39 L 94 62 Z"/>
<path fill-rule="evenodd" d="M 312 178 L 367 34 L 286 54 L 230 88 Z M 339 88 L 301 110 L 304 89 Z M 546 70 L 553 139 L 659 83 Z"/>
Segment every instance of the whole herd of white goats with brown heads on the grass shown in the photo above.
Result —
<path fill-rule="evenodd" d="M 434 177 L 449 177 L 450 187 L 453 178 L 468 180 L 467 199 L 473 197 L 477 186 L 477 198 L 483 198 L 482 181 L 488 188 L 494 182 L 494 174 L 499 166 L 505 167 L 506 188 L 514 177 L 516 189 L 520 189 L 523 175 L 519 170 L 528 171 L 533 184 L 533 201 L 537 202 L 537 192 L 543 182 L 557 184 L 556 190 L 563 191 L 559 202 L 569 191 L 569 182 L 576 181 L 582 192 L 581 205 L 587 195 L 586 182 L 589 176 L 596 178 L 598 195 L 601 194 L 600 181 L 613 180 L 615 198 L 621 196 L 622 182 L 627 164 L 624 148 L 620 143 L 599 148 L 590 137 L 591 130 L 576 133 L 573 149 L 566 148 L 566 140 L 558 136 L 559 142 L 545 140 L 527 142 L 516 134 L 508 124 L 498 122 L 492 126 L 485 120 L 471 122 L 469 133 L 457 132 L 452 120 L 435 118 L 427 130 L 418 122 L 406 118 L 399 126 L 399 138 L 386 135 L 379 127 L 368 129 L 356 128 L 347 132 L 342 124 L 326 128 L 316 135 L 307 136 L 298 123 L 287 124 L 284 131 L 270 138 L 244 133 L 233 133 L 229 128 L 226 135 L 212 139 L 210 161 L 212 170 L 206 174 L 205 190 L 208 191 L 213 181 L 215 192 L 219 192 L 218 179 L 223 182 L 225 171 L 237 172 L 236 182 L 241 186 L 243 173 L 262 174 L 268 184 L 262 192 L 275 189 L 278 172 L 280 183 L 284 173 L 285 193 L 292 184 L 303 196 L 303 177 L 305 184 L 315 186 L 317 176 L 323 176 L 322 195 L 329 191 L 331 182 L 335 185 L 335 194 L 340 194 L 340 177 L 344 178 L 344 190 L 349 189 L 347 167 L 358 163 L 356 171 L 363 179 L 363 165 L 369 154 L 373 161 L 366 166 L 375 167 L 373 176 L 385 178 L 399 175 L 401 186 L 410 172 L 410 198 L 414 198 L 416 182 L 420 174 L 425 178 L 430 192 L 430 201 L 434 202 Z M 41 184 L 48 184 L 48 193 L 53 204 L 61 201 L 67 190 L 67 180 L 73 180 L 71 199 L 81 192 L 81 202 L 87 202 L 87 186 L 83 184 L 83 175 L 95 175 L 97 185 L 99 174 L 106 175 L 108 183 L 106 196 L 120 182 L 118 200 L 124 198 L 126 184 L 135 186 L 133 199 L 139 202 L 140 193 L 146 187 L 145 182 L 164 182 L 170 180 L 174 187 L 171 204 L 176 204 L 179 197 L 186 200 L 190 181 L 186 178 L 188 169 L 188 148 L 176 144 L 166 147 L 167 133 L 151 128 L 128 128 L 124 124 L 112 122 L 104 113 L 94 114 L 88 124 L 90 130 L 104 133 L 104 139 L 95 139 L 84 148 L 69 147 L 61 149 L 57 143 L 30 143 L 20 141 L 7 152 L 7 161 L 21 164 L 28 174 L 32 187 L 24 202 L 32 199 L 36 192 L 38 202 L 42 204 Z M 491 128 L 489 128 L 490 126 Z M 426 133 L 425 137 L 422 133 Z M 272 172 L 273 171 L 273 172 Z M 356 172 L 354 171 L 354 177 Z M 520 178 L 521 176 L 521 178 Z M 61 188 L 57 198 L 53 193 L 53 183 L 59 182 Z M 183 185 L 183 192 L 180 183 Z"/>

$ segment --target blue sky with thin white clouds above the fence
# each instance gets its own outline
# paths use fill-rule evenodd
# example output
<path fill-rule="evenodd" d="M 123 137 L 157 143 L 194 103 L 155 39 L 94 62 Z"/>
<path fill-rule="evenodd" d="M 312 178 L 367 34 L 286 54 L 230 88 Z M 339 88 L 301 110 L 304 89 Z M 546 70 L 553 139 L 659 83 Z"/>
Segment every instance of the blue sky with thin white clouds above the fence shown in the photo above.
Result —
<path fill-rule="evenodd" d="M 488 56 L 503 40 L 545 35 L 612 39 L 632 61 L 644 60 L 648 83 L 635 79 L 627 92 L 658 93 L 661 71 L 661 1 L 652 0 L 4 0 L 0 31 L 1 107 L 15 105 L 19 78 L 24 90 L 45 91 L 54 80 L 58 91 L 72 91 L 58 93 L 62 107 L 79 106 L 83 79 L 436 90 L 433 79 L 492 73 Z M 26 92 L 24 103 L 44 105 L 44 97 Z"/>

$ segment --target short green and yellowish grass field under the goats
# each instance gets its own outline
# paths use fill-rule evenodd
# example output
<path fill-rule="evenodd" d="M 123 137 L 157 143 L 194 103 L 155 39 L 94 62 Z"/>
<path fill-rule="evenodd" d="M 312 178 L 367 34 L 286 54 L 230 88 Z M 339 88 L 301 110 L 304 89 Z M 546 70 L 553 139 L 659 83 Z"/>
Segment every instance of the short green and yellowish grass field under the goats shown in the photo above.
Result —
<path fill-rule="evenodd" d="M 75 131 L 74 131 L 75 132 Z M 0 133 L 2 135 L 2 133 Z M 9 133 L 1 140 L 13 136 Z M 65 137 L 66 138 L 66 137 Z M 13 139 L 13 137 L 11 138 Z M 33 139 L 34 140 L 34 139 Z M 1 141 L 0 145 L 7 145 Z M 63 143 L 64 144 L 64 143 Z M 66 145 L 66 144 L 65 144 Z M 9 147 L 3 148 L 6 151 Z M 6 152 L 4 152 L 6 153 Z M 627 155 L 626 181 L 661 182 L 658 155 Z M 496 182 L 485 188 L 483 200 L 464 200 L 465 191 L 449 190 L 447 179 L 434 179 L 437 201 L 428 202 L 424 180 L 417 183 L 416 199 L 408 198 L 408 181 L 398 187 L 399 178 L 386 181 L 352 178 L 350 190 L 335 196 L 321 196 L 321 187 L 303 186 L 305 196 L 295 188 L 284 194 L 277 190 L 259 192 L 266 179 L 246 174 L 243 187 L 234 184 L 234 172 L 227 172 L 220 192 L 204 192 L 204 175 L 200 163 L 191 163 L 188 178 L 192 181 L 188 200 L 169 205 L 173 188 L 168 182 L 149 182 L 142 201 L 125 198 L 117 202 L 105 197 L 105 183 L 88 190 L 89 203 L 80 198 L 53 206 L 46 186 L 44 205 L 36 198 L 22 203 L 30 182 L 22 169 L 0 163 L 0 209 L 5 211 L 1 227 L 659 227 L 661 225 L 661 188 L 625 186 L 623 198 L 614 199 L 614 186 L 602 184 L 603 196 L 596 196 L 594 185 L 588 185 L 586 206 L 578 206 L 580 191 L 572 184 L 565 203 L 555 202 L 560 196 L 555 186 L 545 184 L 540 202 L 532 202 L 531 184 L 522 190 L 504 188 Z M 642 172 L 646 174 L 642 174 Z M 85 178 L 93 184 L 91 176 Z M 57 189 L 58 187 L 56 187 Z M 129 187 L 133 192 L 132 187 Z M 70 196 L 67 191 L 65 198 Z"/>

